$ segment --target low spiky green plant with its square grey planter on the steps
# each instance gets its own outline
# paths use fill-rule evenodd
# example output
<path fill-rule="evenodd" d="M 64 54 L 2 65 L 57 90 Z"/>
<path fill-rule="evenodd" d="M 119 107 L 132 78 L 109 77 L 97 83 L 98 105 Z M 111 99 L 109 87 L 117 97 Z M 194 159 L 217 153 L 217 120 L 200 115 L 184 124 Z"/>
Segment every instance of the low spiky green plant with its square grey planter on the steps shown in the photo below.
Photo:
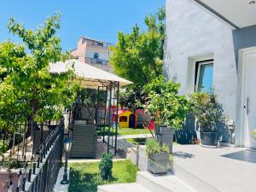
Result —
<path fill-rule="evenodd" d="M 170 153 L 166 145 L 160 145 L 155 139 L 147 140 L 148 171 L 153 174 L 166 174 L 170 162 Z"/>

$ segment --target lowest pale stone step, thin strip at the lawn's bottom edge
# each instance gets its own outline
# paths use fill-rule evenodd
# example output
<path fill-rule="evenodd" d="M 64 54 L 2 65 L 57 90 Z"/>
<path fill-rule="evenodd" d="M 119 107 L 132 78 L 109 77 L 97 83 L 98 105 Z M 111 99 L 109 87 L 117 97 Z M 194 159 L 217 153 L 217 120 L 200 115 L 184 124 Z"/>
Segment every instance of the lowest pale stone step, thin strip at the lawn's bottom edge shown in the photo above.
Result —
<path fill-rule="evenodd" d="M 98 186 L 98 192 L 152 192 L 138 183 L 107 184 Z"/>

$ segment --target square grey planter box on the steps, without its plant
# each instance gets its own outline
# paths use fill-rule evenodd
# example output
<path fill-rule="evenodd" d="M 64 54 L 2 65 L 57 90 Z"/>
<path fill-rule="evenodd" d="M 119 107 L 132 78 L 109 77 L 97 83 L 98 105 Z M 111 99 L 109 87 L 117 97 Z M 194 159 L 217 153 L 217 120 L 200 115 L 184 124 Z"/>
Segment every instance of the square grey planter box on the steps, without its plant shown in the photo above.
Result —
<path fill-rule="evenodd" d="M 154 175 L 166 174 L 168 171 L 169 157 L 170 154 L 167 152 L 151 154 L 148 158 L 148 172 L 152 172 Z"/>

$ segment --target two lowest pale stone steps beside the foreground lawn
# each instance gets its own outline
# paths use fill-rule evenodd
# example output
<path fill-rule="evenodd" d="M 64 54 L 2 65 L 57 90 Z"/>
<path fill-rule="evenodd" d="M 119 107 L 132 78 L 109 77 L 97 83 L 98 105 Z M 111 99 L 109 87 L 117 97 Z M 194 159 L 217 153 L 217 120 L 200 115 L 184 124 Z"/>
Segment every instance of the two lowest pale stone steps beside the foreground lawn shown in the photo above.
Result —
<path fill-rule="evenodd" d="M 102 185 L 98 192 L 196 192 L 174 175 L 155 177 L 149 172 L 137 172 L 137 183 Z"/>

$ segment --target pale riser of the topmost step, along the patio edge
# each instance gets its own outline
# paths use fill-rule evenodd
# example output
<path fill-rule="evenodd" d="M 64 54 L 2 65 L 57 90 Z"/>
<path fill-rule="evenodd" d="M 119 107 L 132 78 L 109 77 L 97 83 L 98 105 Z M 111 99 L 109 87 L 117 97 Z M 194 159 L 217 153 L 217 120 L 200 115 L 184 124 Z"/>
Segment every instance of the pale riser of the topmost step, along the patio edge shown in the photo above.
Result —
<path fill-rule="evenodd" d="M 214 188 L 210 183 L 203 181 L 201 178 L 196 177 L 193 173 L 186 171 L 183 167 L 173 163 L 173 172 L 176 177 L 189 184 L 193 189 L 198 192 L 220 192 Z"/>

